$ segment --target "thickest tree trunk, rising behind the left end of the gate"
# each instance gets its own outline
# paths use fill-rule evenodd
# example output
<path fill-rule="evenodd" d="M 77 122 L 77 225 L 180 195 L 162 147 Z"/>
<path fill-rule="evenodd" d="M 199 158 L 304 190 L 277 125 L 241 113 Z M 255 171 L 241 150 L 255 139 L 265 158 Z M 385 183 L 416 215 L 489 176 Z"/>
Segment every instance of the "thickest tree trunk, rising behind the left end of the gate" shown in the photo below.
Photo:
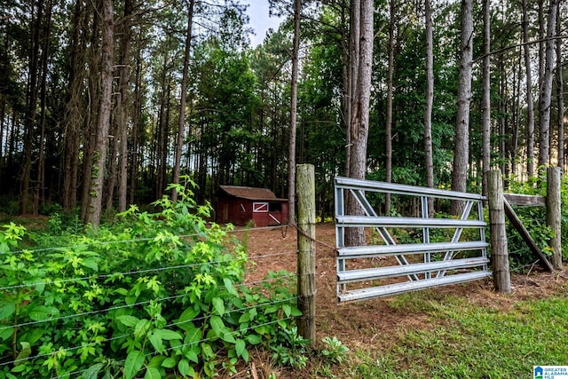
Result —
<path fill-rule="evenodd" d="M 359 54 L 354 62 L 357 62 L 357 76 L 351 109 L 351 178 L 365 178 L 367 172 L 367 138 L 369 130 L 369 102 L 371 97 L 371 76 L 373 68 L 373 19 L 374 7 L 372 0 L 354 0 L 353 4 L 359 3 L 355 9 L 359 13 L 351 12 L 351 28 L 359 31 L 355 39 L 359 41 Z M 351 70 L 353 71 L 353 70 Z M 348 198 L 348 213 L 360 214 L 359 203 L 352 196 Z M 362 228 L 350 228 L 345 235 L 345 243 L 350 245 L 364 245 L 365 233 Z"/>

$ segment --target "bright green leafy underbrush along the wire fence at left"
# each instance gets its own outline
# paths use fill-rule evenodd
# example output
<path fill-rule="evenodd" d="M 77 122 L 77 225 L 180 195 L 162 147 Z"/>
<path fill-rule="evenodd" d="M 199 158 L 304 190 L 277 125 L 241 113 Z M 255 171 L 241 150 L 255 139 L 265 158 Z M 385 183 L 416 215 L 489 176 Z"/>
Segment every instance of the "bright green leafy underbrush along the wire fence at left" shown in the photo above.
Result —
<path fill-rule="evenodd" d="M 180 201 L 132 207 L 98 230 L 57 216 L 44 233 L 4 225 L 0 377 L 232 375 L 251 349 L 274 347 L 277 364 L 293 363 L 305 345 L 296 275 L 246 285 L 245 247 L 175 188 Z"/>

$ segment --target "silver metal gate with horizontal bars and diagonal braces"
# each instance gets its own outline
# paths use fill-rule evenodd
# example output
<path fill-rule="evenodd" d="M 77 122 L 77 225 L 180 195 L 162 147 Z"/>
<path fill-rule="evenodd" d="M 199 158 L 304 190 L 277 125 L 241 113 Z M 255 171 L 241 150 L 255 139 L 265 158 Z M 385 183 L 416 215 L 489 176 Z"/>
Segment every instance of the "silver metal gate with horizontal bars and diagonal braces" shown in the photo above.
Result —
<path fill-rule="evenodd" d="M 351 193 L 364 211 L 349 215 Z M 378 216 L 372 201 L 381 193 L 419 203 L 418 217 Z M 429 217 L 428 200 L 463 201 L 460 218 Z M 370 200 L 372 199 L 372 201 Z M 337 297 L 340 302 L 480 280 L 487 264 L 484 196 L 353 178 L 335 178 Z M 348 228 L 364 228 L 366 246 L 345 246 Z"/>

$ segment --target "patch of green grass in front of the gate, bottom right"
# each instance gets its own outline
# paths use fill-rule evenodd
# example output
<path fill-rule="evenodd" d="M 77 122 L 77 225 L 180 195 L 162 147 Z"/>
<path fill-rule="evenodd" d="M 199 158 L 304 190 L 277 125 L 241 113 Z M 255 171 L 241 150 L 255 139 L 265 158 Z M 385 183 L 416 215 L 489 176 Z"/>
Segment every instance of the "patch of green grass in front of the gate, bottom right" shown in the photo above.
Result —
<path fill-rule="evenodd" d="M 387 351 L 356 351 L 345 377 L 532 378 L 533 366 L 568 365 L 564 294 L 519 301 L 507 312 L 462 297 L 421 296 L 399 296 L 391 305 L 426 312 L 431 327 L 393 330 Z"/>

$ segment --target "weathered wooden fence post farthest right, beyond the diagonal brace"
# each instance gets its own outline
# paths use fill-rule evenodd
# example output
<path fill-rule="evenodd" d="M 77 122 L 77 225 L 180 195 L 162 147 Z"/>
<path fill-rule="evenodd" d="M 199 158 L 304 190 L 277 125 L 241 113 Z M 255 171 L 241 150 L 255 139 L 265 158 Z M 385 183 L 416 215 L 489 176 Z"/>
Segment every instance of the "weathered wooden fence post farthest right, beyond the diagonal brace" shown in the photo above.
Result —
<path fill-rule="evenodd" d="M 552 249 L 552 265 L 556 270 L 562 268 L 562 229 L 560 223 L 560 168 L 547 169 L 547 225 L 554 232 L 554 237 L 548 241 Z"/>

